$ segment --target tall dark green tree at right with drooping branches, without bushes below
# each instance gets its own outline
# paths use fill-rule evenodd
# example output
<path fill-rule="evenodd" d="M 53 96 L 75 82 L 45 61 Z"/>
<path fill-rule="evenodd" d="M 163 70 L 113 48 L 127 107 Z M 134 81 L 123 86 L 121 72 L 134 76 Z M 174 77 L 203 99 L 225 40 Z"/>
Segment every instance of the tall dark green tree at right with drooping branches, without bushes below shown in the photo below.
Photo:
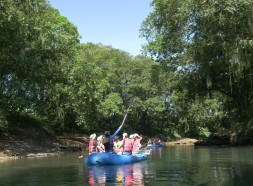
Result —
<path fill-rule="evenodd" d="M 252 1 L 155 0 L 152 5 L 141 29 L 149 41 L 146 51 L 175 75 L 186 74 L 179 82 L 189 83 L 181 89 L 187 102 L 222 95 L 223 114 L 241 127 L 251 125 Z"/>

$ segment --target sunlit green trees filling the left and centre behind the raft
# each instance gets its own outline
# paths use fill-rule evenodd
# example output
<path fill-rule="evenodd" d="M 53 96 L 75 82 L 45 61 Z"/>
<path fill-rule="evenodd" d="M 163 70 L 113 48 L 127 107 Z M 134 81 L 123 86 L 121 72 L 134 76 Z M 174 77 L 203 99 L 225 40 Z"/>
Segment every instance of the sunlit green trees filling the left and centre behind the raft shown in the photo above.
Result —
<path fill-rule="evenodd" d="M 27 116 L 57 132 L 114 130 L 135 100 L 126 129 L 162 132 L 170 82 L 157 63 L 79 44 L 77 28 L 46 0 L 1 1 L 0 16 L 2 129 L 5 118 Z"/>

